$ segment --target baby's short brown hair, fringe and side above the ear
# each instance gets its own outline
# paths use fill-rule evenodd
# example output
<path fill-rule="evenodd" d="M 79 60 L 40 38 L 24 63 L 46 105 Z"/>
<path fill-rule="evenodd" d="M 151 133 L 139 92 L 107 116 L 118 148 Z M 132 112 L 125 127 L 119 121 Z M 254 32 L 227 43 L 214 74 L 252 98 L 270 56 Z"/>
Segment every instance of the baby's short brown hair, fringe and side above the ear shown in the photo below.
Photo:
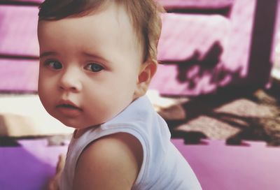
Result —
<path fill-rule="evenodd" d="M 123 4 L 130 15 L 134 30 L 144 42 L 144 59 L 157 63 L 157 47 L 162 28 L 160 13 L 164 10 L 155 0 L 109 0 Z M 108 0 L 45 0 L 39 7 L 39 20 L 60 20 L 87 14 L 104 6 Z"/>

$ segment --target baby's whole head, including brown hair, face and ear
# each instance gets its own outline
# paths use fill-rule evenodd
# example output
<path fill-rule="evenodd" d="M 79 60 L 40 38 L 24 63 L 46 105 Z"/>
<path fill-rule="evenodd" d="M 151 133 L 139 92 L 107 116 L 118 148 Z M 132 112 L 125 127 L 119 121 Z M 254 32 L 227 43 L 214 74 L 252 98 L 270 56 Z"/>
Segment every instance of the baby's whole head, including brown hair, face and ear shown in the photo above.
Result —
<path fill-rule="evenodd" d="M 162 9 L 153 0 L 46 0 L 38 22 L 38 94 L 76 129 L 101 124 L 146 93 Z"/>

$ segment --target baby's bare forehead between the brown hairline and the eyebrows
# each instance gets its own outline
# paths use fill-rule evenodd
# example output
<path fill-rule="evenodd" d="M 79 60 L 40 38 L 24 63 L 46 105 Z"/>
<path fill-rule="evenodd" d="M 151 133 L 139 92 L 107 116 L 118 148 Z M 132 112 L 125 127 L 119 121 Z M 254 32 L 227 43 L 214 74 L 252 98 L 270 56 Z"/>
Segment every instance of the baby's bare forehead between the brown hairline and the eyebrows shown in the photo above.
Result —
<path fill-rule="evenodd" d="M 130 17 L 123 6 L 108 6 L 81 17 L 38 22 L 40 54 L 63 52 L 77 54 L 81 51 L 98 54 L 119 61 L 120 57 L 142 57 L 141 44 L 132 27 Z M 124 58 L 123 58 L 124 59 Z"/>

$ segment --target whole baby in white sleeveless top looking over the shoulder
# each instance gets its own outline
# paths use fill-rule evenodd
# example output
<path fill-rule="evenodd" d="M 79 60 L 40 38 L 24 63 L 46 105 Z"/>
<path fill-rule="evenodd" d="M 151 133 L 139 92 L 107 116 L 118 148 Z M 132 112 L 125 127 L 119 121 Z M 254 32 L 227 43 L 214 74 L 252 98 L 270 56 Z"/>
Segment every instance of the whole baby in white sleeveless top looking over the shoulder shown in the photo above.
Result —
<path fill-rule="evenodd" d="M 146 97 L 162 8 L 153 0 L 46 0 L 38 94 L 75 130 L 59 189 L 201 189 Z"/>

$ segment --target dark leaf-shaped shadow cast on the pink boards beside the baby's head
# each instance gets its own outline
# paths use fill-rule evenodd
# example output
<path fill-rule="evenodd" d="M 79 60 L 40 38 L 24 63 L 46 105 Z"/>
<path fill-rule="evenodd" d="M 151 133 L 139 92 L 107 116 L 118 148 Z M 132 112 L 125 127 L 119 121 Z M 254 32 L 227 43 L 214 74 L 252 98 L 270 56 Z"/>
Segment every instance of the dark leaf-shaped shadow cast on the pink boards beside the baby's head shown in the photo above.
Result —
<path fill-rule="evenodd" d="M 231 81 L 240 80 L 241 71 L 245 65 L 239 66 L 235 71 L 225 68 L 221 61 L 222 54 L 223 47 L 216 41 L 203 56 L 196 50 L 189 59 L 164 61 L 164 65 L 176 66 L 176 80 L 181 84 L 186 84 L 186 89 L 195 89 L 203 78 L 209 79 L 207 83 L 209 86 L 218 86 L 227 78 Z"/>

